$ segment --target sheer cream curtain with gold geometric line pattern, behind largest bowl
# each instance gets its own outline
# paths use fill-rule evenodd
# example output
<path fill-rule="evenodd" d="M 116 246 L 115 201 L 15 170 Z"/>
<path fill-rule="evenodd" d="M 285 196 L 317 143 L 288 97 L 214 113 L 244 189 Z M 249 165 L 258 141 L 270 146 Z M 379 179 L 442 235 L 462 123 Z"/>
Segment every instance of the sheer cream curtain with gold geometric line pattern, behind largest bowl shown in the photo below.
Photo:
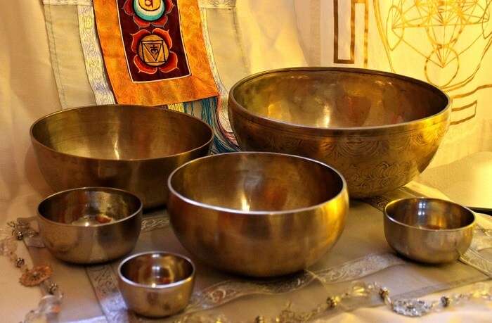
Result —
<path fill-rule="evenodd" d="M 492 150 L 492 1 L 295 0 L 309 65 L 415 77 L 452 99 L 430 167 Z"/>

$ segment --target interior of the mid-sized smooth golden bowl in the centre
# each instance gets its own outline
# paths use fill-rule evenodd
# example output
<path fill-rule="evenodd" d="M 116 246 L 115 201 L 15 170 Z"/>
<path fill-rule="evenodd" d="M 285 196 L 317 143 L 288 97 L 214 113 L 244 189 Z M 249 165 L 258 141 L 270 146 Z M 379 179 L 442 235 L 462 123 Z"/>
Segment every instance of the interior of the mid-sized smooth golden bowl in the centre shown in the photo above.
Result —
<path fill-rule="evenodd" d="M 283 211 L 318 205 L 343 189 L 340 175 L 313 160 L 274 153 L 200 158 L 176 170 L 171 187 L 206 205 L 242 211 Z"/>

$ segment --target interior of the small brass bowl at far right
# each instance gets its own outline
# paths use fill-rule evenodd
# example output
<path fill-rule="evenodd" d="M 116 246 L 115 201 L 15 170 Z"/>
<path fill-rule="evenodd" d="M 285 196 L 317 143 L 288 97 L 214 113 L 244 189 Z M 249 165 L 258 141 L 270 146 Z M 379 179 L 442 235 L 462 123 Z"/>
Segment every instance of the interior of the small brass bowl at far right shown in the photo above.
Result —
<path fill-rule="evenodd" d="M 434 198 L 405 198 L 386 208 L 391 219 L 422 229 L 459 229 L 474 221 L 470 210 Z"/>

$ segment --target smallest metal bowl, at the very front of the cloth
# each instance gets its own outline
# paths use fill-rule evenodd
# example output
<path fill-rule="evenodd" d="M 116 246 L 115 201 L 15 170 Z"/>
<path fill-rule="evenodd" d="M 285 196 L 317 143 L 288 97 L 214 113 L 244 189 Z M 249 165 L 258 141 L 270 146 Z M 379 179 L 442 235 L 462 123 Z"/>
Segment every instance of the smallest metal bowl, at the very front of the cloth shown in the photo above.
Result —
<path fill-rule="evenodd" d="M 129 309 L 147 317 L 169 316 L 188 305 L 195 266 L 174 253 L 138 253 L 119 264 L 118 283 Z"/>

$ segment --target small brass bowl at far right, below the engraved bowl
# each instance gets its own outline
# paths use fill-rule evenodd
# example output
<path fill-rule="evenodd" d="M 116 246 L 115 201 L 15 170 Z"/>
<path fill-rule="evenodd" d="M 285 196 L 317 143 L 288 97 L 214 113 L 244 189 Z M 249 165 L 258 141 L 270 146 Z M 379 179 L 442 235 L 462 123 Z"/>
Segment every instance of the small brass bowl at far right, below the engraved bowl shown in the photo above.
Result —
<path fill-rule="evenodd" d="M 472 243 L 475 216 L 437 198 L 403 198 L 384 208 L 384 235 L 397 253 L 439 264 L 460 258 Z"/>

